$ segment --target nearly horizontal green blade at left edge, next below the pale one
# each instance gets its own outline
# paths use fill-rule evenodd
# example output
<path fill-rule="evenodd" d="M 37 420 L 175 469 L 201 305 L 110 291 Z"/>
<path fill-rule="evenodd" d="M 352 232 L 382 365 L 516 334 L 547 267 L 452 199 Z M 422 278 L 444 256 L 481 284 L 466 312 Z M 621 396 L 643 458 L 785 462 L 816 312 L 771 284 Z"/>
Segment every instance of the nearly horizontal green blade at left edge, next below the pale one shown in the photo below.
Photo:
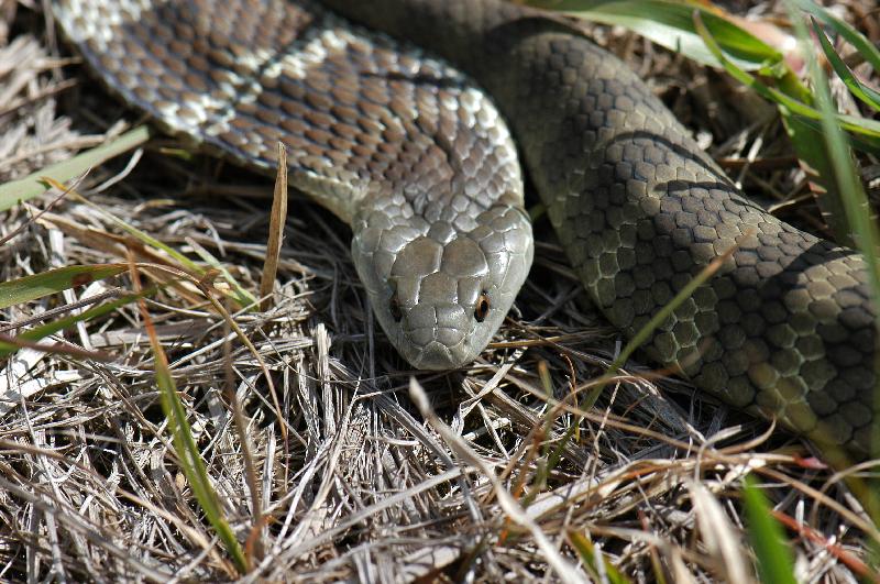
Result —
<path fill-rule="evenodd" d="M 66 266 L 0 284 L 0 310 L 124 272 L 125 264 Z"/>

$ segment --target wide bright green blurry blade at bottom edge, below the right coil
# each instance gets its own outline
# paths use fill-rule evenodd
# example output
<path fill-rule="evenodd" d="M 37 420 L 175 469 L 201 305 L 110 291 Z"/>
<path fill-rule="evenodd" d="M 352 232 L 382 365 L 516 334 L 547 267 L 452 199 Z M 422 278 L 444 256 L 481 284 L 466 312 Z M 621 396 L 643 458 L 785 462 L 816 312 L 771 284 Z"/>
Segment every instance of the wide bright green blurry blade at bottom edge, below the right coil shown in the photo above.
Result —
<path fill-rule="evenodd" d="M 767 584 L 796 584 L 794 558 L 782 532 L 782 527 L 771 515 L 770 503 L 755 485 L 751 475 L 743 484 L 746 506 L 746 532 L 758 559 L 758 575 Z"/>

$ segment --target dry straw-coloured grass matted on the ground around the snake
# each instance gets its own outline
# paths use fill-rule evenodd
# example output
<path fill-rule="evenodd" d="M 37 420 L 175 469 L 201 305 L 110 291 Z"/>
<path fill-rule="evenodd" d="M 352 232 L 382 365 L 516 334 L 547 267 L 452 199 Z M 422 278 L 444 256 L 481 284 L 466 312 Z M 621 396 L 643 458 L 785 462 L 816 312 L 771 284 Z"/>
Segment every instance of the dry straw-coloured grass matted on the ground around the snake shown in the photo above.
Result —
<path fill-rule="evenodd" d="M 0 8 L 1 179 L 95 143 L 116 120 L 87 112 L 119 111 L 28 36 L 44 33 L 38 16 L 21 13 L 12 26 L 15 4 L 0 3 L 9 5 Z M 8 30 L 16 31 L 11 40 Z M 773 205 L 788 219 L 816 223 L 768 107 L 632 36 L 600 33 L 618 53 L 645 59 L 646 76 L 662 71 L 658 91 L 697 121 L 694 131 L 747 187 L 779 197 Z M 57 114 L 59 99 L 73 123 Z M 754 123 L 730 109 L 743 103 Z M 155 150 L 133 168 L 123 161 L 95 169 L 79 190 L 193 258 L 207 250 L 255 293 L 272 184 Z M 120 173 L 111 187 L 95 188 Z M 141 262 L 174 265 L 72 198 L 32 220 L 53 198 L 2 218 L 0 240 L 24 229 L 0 246 L 0 279 L 125 261 L 132 249 Z M 547 224 L 537 231 L 552 241 Z M 634 581 L 748 582 L 739 488 L 752 471 L 789 527 L 799 577 L 859 577 L 875 528 L 840 476 L 811 467 L 809 447 L 771 436 L 768 423 L 636 362 L 583 418 L 553 406 L 588 388 L 620 348 L 556 244 L 538 246 L 517 309 L 480 362 L 415 374 L 425 403 L 410 399 L 414 372 L 375 327 L 348 250 L 346 228 L 294 195 L 272 306 L 235 313 L 256 353 L 191 287 L 147 301 L 251 572 L 235 572 L 182 474 L 155 355 L 130 305 L 56 339 L 79 353 L 25 349 L 0 363 L 0 580 L 557 581 L 580 572 L 572 542 L 586 536 Z M 0 332 L 131 289 L 120 277 L 16 306 L 2 313 Z M 548 470 L 575 420 L 574 440 Z"/>

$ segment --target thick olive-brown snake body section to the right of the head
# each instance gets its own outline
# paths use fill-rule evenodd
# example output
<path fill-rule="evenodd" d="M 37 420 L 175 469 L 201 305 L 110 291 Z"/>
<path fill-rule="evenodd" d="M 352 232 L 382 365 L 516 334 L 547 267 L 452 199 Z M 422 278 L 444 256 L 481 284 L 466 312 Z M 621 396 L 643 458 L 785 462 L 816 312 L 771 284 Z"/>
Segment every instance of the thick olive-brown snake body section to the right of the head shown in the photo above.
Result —
<path fill-rule="evenodd" d="M 645 346 L 702 389 L 868 454 L 877 329 L 862 257 L 743 197 L 650 89 L 564 22 L 495 0 L 329 0 L 498 103 L 592 298 L 632 335 L 735 252 Z"/>

